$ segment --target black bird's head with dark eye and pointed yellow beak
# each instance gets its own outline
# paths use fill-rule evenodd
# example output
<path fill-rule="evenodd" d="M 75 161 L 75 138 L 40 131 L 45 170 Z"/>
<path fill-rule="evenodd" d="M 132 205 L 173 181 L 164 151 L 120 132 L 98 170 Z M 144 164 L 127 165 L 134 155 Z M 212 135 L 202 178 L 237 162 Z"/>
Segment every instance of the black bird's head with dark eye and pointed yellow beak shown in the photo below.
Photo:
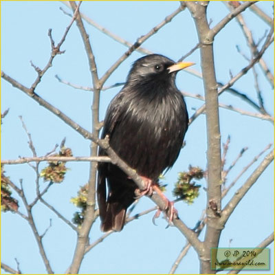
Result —
<path fill-rule="evenodd" d="M 166 56 L 149 54 L 133 63 L 127 82 L 133 84 L 140 81 L 175 80 L 177 72 L 194 64 L 192 62 L 175 63 Z"/>

